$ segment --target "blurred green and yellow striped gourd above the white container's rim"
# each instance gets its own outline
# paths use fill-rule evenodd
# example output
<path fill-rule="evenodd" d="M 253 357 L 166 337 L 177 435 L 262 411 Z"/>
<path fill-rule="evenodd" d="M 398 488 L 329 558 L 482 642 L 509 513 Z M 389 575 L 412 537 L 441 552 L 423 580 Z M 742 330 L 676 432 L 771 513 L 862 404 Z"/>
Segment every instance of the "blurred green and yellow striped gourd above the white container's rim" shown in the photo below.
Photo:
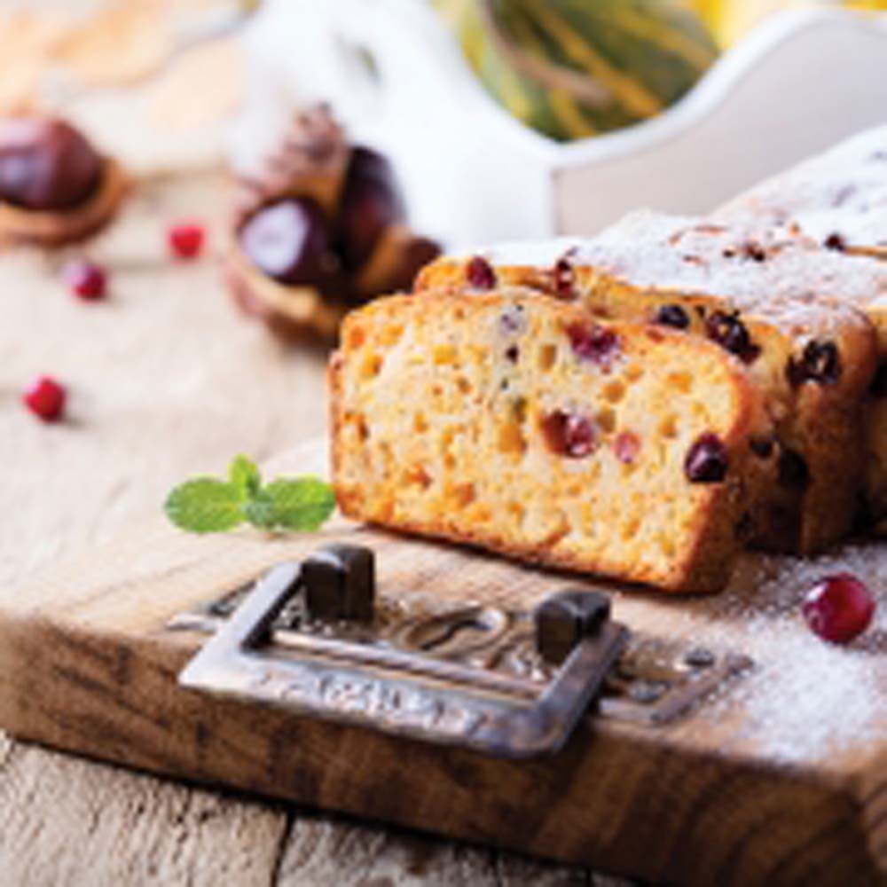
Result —
<path fill-rule="evenodd" d="M 660 114 L 718 50 L 687 0 L 436 0 L 483 85 L 566 141 Z"/>

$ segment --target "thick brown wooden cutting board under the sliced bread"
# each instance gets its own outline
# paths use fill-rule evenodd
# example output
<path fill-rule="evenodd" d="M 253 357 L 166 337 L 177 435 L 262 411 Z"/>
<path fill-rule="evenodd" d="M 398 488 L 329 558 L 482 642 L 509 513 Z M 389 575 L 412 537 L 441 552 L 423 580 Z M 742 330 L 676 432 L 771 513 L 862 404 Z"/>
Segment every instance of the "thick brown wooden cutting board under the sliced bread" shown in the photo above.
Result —
<path fill-rule="evenodd" d="M 278 459 L 317 470 L 323 447 Z M 749 557 L 718 597 L 611 586 L 633 631 L 753 667 L 664 726 L 586 717 L 559 754 L 510 761 L 185 690 L 206 640 L 170 619 L 329 541 L 373 546 L 382 592 L 530 607 L 565 577 L 347 522 L 310 536 L 178 533 L 161 517 L 26 589 L 0 590 L 0 727 L 23 739 L 632 875 L 687 884 L 887 883 L 887 555 Z M 879 598 L 849 648 L 797 615 L 850 569 Z M 570 578 L 570 585 L 576 585 Z M 601 587 L 600 583 L 595 583 Z"/>

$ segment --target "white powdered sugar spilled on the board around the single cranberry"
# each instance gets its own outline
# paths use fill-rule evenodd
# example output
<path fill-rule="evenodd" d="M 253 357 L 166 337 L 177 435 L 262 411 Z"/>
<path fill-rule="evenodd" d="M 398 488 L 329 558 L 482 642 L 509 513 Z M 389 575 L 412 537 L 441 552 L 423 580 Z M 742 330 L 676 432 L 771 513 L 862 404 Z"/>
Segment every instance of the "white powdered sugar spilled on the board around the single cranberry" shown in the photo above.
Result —
<path fill-rule="evenodd" d="M 873 623 L 844 647 L 820 640 L 801 616 L 824 576 L 852 573 L 875 595 Z M 846 546 L 801 560 L 749 554 L 717 597 L 668 602 L 668 624 L 755 662 L 751 673 L 696 711 L 718 748 L 792 764 L 838 764 L 887 748 L 887 547 Z M 650 604 L 619 600 L 620 617 L 650 622 Z M 658 620 L 653 620 L 655 626 Z M 737 718 L 736 712 L 741 715 Z M 860 760 L 861 764 L 862 761 Z"/>

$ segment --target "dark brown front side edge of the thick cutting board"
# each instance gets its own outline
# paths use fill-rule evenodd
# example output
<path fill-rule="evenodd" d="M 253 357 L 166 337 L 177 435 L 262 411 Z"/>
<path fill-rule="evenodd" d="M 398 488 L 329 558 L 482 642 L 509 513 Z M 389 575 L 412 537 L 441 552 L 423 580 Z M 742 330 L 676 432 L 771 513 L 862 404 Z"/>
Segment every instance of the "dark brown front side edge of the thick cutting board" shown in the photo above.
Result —
<path fill-rule="evenodd" d="M 887 870 L 880 789 L 865 805 L 814 774 L 585 727 L 556 760 L 441 750 L 185 691 L 189 650 L 0 613 L 0 726 L 138 770 L 655 882 L 865 884 Z"/>

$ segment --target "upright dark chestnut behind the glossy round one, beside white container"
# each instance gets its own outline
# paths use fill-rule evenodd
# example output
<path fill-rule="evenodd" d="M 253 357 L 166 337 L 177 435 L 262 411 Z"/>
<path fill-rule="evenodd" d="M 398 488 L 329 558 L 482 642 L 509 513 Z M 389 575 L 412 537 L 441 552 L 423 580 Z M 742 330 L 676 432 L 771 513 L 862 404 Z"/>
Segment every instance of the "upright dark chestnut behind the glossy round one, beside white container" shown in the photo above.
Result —
<path fill-rule="evenodd" d="M 341 255 L 349 268 L 359 268 L 389 225 L 404 218 L 404 201 L 391 164 L 370 148 L 351 152 L 339 205 Z"/>

